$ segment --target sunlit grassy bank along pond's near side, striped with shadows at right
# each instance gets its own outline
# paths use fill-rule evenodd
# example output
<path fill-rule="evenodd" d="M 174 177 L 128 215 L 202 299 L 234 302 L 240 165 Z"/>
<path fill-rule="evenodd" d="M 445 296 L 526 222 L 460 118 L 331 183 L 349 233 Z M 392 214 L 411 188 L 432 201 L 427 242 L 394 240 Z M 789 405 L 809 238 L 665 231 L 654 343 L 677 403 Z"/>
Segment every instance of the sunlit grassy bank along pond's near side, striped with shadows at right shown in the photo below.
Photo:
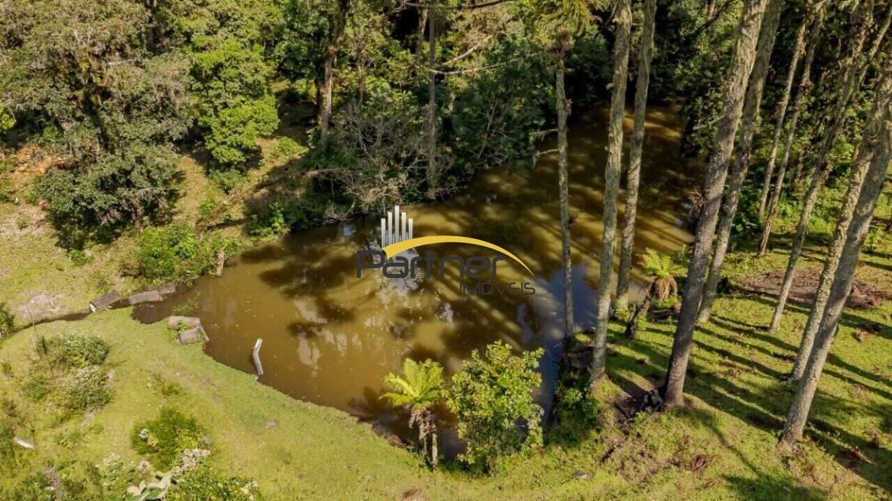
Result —
<path fill-rule="evenodd" d="M 866 266 L 888 267 L 888 260 Z M 8 488 L 49 459 L 100 464 L 118 455 L 125 463 L 137 462 L 129 446 L 133 427 L 160 407 L 174 406 L 207 427 L 213 464 L 258 480 L 270 499 L 399 499 L 413 489 L 428 499 L 888 497 L 892 308 L 847 314 L 822 378 L 808 441 L 797 451 L 775 444 L 794 390 L 780 376 L 789 369 L 795 327 L 805 322 L 805 311 L 794 306 L 781 332 L 770 336 L 756 326 L 767 322 L 771 310 L 772 300 L 762 297 L 721 298 L 714 320 L 698 332 L 687 387 L 690 407 L 644 413 L 628 423 L 607 402 L 660 381 L 673 324 L 647 324 L 636 341 L 615 338 L 603 430 L 512 459 L 487 478 L 449 468 L 426 472 L 416 456 L 350 416 L 285 397 L 219 365 L 198 347 L 178 346 L 163 325 L 138 324 L 128 310 L 39 325 L 0 349 L 0 358 L 11 365 L 11 374 L 0 376 L 0 391 L 29 413 L 37 444 L 27 466 L 4 475 L 0 485 Z M 879 332 L 874 324 L 880 324 Z M 869 334 L 859 339 L 859 332 Z M 54 333 L 96 333 L 111 343 L 111 404 L 59 423 L 22 398 L 19 386 L 34 358 L 34 341 Z M 181 390 L 162 391 L 165 383 Z"/>

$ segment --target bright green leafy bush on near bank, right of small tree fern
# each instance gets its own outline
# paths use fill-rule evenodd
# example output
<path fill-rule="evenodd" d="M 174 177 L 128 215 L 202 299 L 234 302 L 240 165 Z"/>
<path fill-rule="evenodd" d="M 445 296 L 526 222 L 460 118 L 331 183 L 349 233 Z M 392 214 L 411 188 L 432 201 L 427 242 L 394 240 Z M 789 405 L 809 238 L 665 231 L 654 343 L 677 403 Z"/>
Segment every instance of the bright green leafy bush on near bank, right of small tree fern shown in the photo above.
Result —
<path fill-rule="evenodd" d="M 541 355 L 537 349 L 518 357 L 497 341 L 483 355 L 475 350 L 452 378 L 446 403 L 458 417 L 458 437 L 467 441 L 461 456 L 467 464 L 489 470 L 500 456 L 541 446 L 542 407 L 533 400 Z"/>

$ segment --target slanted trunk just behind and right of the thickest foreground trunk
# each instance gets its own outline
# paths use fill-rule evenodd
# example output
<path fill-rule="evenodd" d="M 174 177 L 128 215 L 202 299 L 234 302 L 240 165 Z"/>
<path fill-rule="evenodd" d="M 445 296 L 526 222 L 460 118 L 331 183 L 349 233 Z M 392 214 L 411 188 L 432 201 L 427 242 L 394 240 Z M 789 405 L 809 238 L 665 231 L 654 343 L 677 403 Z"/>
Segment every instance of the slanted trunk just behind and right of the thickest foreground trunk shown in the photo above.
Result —
<path fill-rule="evenodd" d="M 731 239 L 731 226 L 734 224 L 734 216 L 737 214 L 737 204 L 740 199 L 740 191 L 743 189 L 743 181 L 747 178 L 749 156 L 753 151 L 753 136 L 756 134 L 756 122 L 759 118 L 760 106 L 762 105 L 762 91 L 765 86 L 765 78 L 768 76 L 769 62 L 771 62 L 774 39 L 777 36 L 783 3 L 783 0 L 770 0 L 765 10 L 762 29 L 759 32 L 759 41 L 756 45 L 756 62 L 753 65 L 752 73 L 749 75 L 743 118 L 740 122 L 740 139 L 737 144 L 736 158 L 731 165 L 731 180 L 728 185 L 728 193 L 725 193 L 722 218 L 719 223 L 718 236 L 715 240 L 715 253 L 712 265 L 709 267 L 706 286 L 703 289 L 703 299 L 700 301 L 698 322 L 709 320 L 713 301 L 715 300 L 715 292 L 718 288 L 719 280 L 722 278 L 725 252 L 728 250 L 728 241 Z"/>

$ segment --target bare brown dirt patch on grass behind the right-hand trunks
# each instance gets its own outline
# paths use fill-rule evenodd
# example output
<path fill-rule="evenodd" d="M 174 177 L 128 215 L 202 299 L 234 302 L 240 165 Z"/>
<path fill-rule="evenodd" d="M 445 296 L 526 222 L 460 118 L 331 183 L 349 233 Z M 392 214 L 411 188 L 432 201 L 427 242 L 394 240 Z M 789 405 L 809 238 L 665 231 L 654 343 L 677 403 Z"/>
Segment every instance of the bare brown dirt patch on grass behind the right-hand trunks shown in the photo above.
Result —
<path fill-rule="evenodd" d="M 864 267 L 862 267 L 864 268 Z M 868 270 L 859 269 L 859 275 L 864 275 Z M 777 295 L 780 284 L 783 283 L 784 270 L 775 269 L 764 271 L 756 275 L 740 279 L 737 288 L 746 292 L 756 292 L 765 295 Z M 869 309 L 876 308 L 889 300 L 892 300 L 892 277 L 887 273 L 871 269 L 873 279 L 868 280 L 863 276 L 856 276 L 852 285 L 852 293 L 846 301 L 847 308 Z M 793 275 L 793 285 L 789 290 L 789 300 L 800 304 L 811 304 L 818 289 L 818 280 L 821 270 L 815 268 L 798 269 Z"/>

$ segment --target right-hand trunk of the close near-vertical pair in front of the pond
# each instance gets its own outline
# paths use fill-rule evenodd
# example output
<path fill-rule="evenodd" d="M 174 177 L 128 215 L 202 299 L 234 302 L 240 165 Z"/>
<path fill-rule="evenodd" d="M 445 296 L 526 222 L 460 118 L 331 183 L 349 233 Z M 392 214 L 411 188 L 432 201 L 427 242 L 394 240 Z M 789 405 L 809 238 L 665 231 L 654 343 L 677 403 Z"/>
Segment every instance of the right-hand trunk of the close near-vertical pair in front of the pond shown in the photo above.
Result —
<path fill-rule="evenodd" d="M 632 125 L 632 144 L 629 147 L 629 172 L 626 176 L 625 210 L 623 211 L 623 241 L 619 254 L 619 275 L 616 279 L 616 308 L 626 308 L 629 304 L 629 275 L 632 272 L 635 217 L 638 211 L 638 185 L 641 175 L 641 150 L 644 147 L 644 120 L 648 106 L 650 59 L 654 49 L 654 19 L 656 16 L 657 0 L 646 0 L 641 46 L 638 52 L 635 114 Z"/>

